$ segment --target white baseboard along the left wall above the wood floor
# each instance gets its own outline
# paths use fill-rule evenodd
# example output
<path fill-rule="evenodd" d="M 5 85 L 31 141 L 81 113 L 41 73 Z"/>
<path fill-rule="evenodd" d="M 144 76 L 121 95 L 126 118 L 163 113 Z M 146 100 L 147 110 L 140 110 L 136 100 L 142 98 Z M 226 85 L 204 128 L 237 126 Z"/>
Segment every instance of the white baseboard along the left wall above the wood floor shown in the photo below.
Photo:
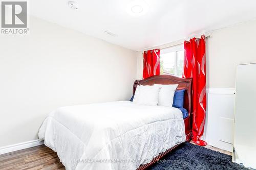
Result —
<path fill-rule="evenodd" d="M 0 155 L 6 154 L 9 152 L 13 152 L 13 151 L 23 150 L 26 148 L 36 147 L 36 146 L 42 145 L 42 144 L 44 144 L 44 141 L 39 141 L 37 139 L 37 140 L 31 140 L 31 141 L 27 141 L 27 142 L 8 145 L 6 147 L 0 148 Z"/>

